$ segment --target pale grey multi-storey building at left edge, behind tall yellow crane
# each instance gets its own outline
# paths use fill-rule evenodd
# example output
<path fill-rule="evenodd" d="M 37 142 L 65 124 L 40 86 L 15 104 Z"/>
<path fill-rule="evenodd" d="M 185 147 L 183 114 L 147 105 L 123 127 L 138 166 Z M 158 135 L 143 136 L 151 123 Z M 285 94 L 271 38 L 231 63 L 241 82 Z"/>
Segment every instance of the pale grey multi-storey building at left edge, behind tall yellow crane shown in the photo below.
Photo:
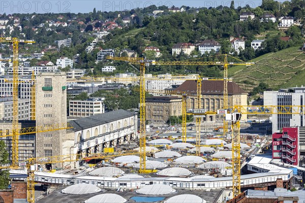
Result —
<path fill-rule="evenodd" d="M 18 99 L 18 119 L 29 120 L 30 112 L 29 99 Z M 13 120 L 13 97 L 0 98 L 0 120 Z"/>

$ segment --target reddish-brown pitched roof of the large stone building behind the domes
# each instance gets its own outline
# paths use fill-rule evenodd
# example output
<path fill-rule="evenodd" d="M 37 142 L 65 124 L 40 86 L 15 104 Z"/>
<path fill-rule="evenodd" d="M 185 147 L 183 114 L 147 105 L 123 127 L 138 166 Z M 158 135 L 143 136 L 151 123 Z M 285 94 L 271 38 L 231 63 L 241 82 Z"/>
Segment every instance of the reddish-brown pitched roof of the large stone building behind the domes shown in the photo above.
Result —
<path fill-rule="evenodd" d="M 196 94 L 197 82 L 195 80 L 187 80 L 182 83 L 175 91 L 186 91 L 188 93 Z M 223 95 L 224 81 L 223 80 L 202 80 L 201 94 L 217 94 Z M 246 94 L 235 82 L 228 82 L 228 94 Z"/>

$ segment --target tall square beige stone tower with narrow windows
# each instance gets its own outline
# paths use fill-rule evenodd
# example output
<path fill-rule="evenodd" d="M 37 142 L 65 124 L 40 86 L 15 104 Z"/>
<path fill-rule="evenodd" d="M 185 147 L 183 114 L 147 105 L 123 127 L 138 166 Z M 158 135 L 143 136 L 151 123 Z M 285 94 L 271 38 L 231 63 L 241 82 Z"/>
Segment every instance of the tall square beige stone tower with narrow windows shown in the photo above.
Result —
<path fill-rule="evenodd" d="M 67 123 L 67 79 L 65 73 L 41 73 L 36 77 L 36 124 Z M 36 157 L 63 154 L 66 130 L 37 133 Z M 55 166 L 60 166 L 56 164 Z M 46 165 L 50 168 L 50 165 Z"/>

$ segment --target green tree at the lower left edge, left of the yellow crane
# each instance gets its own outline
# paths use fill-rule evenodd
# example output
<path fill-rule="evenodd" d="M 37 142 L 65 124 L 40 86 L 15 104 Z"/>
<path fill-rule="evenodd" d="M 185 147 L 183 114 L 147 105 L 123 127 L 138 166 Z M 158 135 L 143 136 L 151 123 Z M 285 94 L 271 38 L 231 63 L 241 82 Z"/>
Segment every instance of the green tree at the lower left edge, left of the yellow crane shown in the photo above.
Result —
<path fill-rule="evenodd" d="M 0 165 L 9 163 L 9 152 L 4 141 L 0 141 Z M 0 189 L 7 189 L 10 184 L 9 170 L 0 170 Z"/>

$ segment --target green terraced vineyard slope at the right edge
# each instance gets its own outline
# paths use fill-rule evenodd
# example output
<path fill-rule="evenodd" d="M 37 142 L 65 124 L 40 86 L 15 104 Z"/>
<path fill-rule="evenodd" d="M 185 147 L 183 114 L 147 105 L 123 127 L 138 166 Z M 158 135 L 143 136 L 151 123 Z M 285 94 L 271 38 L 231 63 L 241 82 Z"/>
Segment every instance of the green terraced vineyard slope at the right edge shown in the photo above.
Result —
<path fill-rule="evenodd" d="M 250 92 L 260 82 L 272 89 L 305 84 L 305 52 L 291 47 L 276 53 L 268 53 L 252 60 L 255 65 L 229 67 L 228 76 Z"/>

